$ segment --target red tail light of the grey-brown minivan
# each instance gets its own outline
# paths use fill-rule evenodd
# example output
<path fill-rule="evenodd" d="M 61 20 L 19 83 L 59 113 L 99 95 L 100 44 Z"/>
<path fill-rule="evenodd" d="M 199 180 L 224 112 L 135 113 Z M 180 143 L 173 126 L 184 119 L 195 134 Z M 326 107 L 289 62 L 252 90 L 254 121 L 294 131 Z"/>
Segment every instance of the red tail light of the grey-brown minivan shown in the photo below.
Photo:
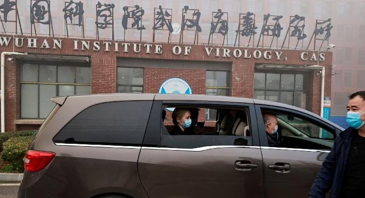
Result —
<path fill-rule="evenodd" d="M 37 172 L 47 167 L 56 155 L 54 152 L 32 151 L 25 153 L 24 168 L 29 172 Z"/>

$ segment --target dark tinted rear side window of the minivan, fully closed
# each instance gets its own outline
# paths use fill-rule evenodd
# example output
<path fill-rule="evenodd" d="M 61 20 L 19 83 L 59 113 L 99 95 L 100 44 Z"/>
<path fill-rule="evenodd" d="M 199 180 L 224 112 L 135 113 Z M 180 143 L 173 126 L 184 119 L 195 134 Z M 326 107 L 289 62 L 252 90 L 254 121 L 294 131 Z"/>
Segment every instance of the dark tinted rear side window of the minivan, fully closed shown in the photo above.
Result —
<path fill-rule="evenodd" d="M 152 101 L 110 102 L 83 110 L 54 137 L 54 141 L 106 145 L 139 145 Z"/>

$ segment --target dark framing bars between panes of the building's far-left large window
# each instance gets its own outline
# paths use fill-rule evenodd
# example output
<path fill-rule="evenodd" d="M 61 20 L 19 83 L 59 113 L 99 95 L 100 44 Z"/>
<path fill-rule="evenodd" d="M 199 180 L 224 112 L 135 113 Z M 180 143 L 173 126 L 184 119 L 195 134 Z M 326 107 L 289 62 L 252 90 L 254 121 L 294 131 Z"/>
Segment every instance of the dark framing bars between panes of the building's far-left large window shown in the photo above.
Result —
<path fill-rule="evenodd" d="M 21 81 L 21 67 L 24 64 L 32 64 L 32 65 L 36 65 L 37 66 L 37 81 L 36 82 L 28 82 L 28 81 Z M 40 70 L 39 70 L 39 66 L 40 65 L 48 65 L 48 66 L 56 66 L 56 73 L 55 73 L 55 77 L 56 77 L 56 82 L 40 82 Z M 73 66 L 74 67 L 74 76 L 73 76 L 73 83 L 61 83 L 61 82 L 57 82 L 58 81 L 58 67 L 59 66 Z M 19 63 L 19 118 L 20 119 L 46 119 L 45 118 L 41 118 L 40 117 L 40 86 L 41 85 L 55 85 L 56 86 L 56 96 L 60 96 L 59 95 L 59 91 L 60 91 L 60 85 L 71 85 L 74 87 L 74 94 L 76 95 L 76 87 L 77 86 L 90 86 L 90 93 L 91 93 L 91 76 L 90 76 L 90 83 L 76 83 L 76 69 L 78 67 L 86 67 L 86 68 L 90 68 L 90 75 L 91 75 L 91 66 L 85 63 L 67 63 L 67 62 L 50 62 L 50 61 L 45 61 L 42 62 L 41 64 L 35 61 L 21 61 Z M 22 85 L 37 85 L 37 97 L 38 97 L 38 109 L 37 109 L 37 117 L 22 117 L 22 99 L 23 99 L 23 95 L 21 94 L 22 92 Z M 50 109 L 52 110 L 52 108 Z M 48 115 L 48 114 L 47 114 Z"/>

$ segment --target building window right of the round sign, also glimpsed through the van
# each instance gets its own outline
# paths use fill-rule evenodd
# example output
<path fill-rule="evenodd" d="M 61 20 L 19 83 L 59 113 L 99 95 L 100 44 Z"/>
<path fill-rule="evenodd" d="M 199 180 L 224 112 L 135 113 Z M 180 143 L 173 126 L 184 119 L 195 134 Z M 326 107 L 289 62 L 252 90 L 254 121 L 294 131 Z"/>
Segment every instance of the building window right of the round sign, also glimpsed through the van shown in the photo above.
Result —
<path fill-rule="evenodd" d="M 205 93 L 207 95 L 230 95 L 230 72 L 206 71 Z M 205 109 L 205 120 L 216 119 L 216 109 Z"/>

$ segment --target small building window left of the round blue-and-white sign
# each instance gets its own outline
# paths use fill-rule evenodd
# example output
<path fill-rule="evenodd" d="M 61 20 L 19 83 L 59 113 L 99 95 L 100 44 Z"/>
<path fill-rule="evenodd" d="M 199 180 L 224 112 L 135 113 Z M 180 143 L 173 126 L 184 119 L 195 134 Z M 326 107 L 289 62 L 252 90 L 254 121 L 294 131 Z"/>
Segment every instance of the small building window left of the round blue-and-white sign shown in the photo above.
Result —
<path fill-rule="evenodd" d="M 143 74 L 143 68 L 118 67 L 116 92 L 143 93 Z"/>

